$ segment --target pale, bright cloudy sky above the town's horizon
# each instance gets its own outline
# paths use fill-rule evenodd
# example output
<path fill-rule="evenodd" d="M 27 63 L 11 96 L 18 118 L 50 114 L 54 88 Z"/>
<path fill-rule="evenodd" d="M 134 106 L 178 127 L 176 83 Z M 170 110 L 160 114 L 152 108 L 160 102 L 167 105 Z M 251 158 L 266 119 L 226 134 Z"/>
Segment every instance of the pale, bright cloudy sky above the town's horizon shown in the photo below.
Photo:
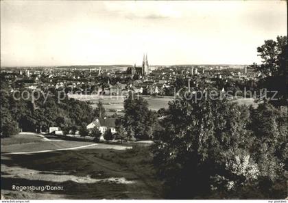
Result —
<path fill-rule="evenodd" d="M 1 1 L 1 66 L 260 63 L 285 1 Z"/>

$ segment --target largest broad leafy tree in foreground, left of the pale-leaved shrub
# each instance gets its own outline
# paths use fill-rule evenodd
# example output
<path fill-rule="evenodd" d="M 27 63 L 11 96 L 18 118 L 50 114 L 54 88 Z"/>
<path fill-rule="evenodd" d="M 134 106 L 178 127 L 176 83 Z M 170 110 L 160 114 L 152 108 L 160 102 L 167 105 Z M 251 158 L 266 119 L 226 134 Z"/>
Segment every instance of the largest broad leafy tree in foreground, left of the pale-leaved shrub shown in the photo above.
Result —
<path fill-rule="evenodd" d="M 241 165 L 234 171 L 226 165 L 247 157 L 254 163 L 249 115 L 247 107 L 226 100 L 195 102 L 180 96 L 169 104 L 154 148 L 154 164 L 168 198 L 200 198 L 251 181 L 253 167 L 245 174 L 238 173 Z"/>

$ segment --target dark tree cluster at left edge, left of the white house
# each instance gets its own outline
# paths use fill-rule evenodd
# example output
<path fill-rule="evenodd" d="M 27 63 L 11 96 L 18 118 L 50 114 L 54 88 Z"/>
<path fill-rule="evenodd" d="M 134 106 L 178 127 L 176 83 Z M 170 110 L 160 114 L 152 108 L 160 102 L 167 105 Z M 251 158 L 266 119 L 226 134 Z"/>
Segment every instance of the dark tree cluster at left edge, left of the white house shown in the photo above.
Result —
<path fill-rule="evenodd" d="M 15 120 L 23 131 L 35 132 L 40 129 L 47 130 L 49 126 L 80 126 L 83 121 L 88 123 L 93 120 L 92 107 L 86 102 L 69 99 L 65 95 L 61 95 L 63 99 L 58 100 L 56 90 L 43 90 L 38 93 L 27 90 L 29 97 L 23 99 L 21 94 L 25 89 L 19 90 L 18 93 L 12 92 L 7 81 L 1 80 L 1 127 L 5 120 Z M 33 94 L 40 97 L 34 100 Z"/>

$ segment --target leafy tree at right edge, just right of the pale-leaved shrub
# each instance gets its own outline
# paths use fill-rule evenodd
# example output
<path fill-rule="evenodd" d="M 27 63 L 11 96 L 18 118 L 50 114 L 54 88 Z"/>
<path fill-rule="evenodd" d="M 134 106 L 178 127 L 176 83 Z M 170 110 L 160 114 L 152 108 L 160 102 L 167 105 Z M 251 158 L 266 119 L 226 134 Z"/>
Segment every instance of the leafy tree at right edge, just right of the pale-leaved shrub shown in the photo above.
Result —
<path fill-rule="evenodd" d="M 287 107 L 277 109 L 269 104 L 261 104 L 251 113 L 251 130 L 256 139 L 252 152 L 259 163 L 261 176 L 269 177 L 272 182 L 283 176 L 287 163 Z"/>

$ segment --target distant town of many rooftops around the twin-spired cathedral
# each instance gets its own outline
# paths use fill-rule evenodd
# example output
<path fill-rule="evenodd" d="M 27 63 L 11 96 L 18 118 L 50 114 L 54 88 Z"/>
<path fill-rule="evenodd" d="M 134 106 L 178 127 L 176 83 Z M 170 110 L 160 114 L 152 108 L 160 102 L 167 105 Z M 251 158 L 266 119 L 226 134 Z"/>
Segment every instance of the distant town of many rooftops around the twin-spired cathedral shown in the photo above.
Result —
<path fill-rule="evenodd" d="M 65 67 L 3 67 L 8 83 L 17 90 L 55 89 L 69 94 L 175 96 L 173 88 L 217 85 L 229 90 L 236 86 L 253 86 L 261 73 L 245 65 L 175 65 L 149 66 L 147 54 L 142 66 L 65 66 Z M 202 88 L 202 87 L 201 87 Z"/>

